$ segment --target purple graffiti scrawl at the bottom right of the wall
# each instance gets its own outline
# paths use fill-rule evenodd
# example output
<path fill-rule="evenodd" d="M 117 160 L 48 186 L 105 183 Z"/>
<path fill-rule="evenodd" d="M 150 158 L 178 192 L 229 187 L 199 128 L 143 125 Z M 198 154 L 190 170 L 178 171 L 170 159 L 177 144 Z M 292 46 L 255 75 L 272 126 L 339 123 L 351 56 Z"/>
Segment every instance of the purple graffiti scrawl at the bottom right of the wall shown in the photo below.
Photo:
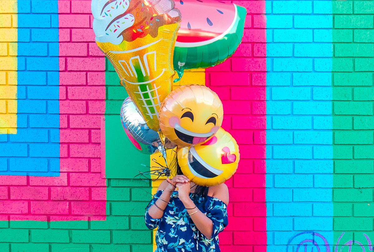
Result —
<path fill-rule="evenodd" d="M 362 249 L 362 252 L 366 252 L 365 247 L 368 247 L 368 251 L 373 251 L 373 246 L 371 245 L 371 240 L 367 236 L 367 234 L 362 234 L 362 239 L 366 239 L 367 243 L 363 243 L 356 240 L 348 240 L 344 242 L 344 232 L 339 236 L 336 244 L 334 252 L 343 252 L 343 251 L 352 251 L 352 247 L 354 246 L 353 251 L 360 251 L 359 248 Z M 295 248 L 292 249 L 292 248 Z M 345 248 L 345 249 L 344 249 Z M 343 250 L 344 249 L 344 250 Z M 327 239 L 319 233 L 313 231 L 306 231 L 302 233 L 298 233 L 293 236 L 291 239 L 288 240 L 286 252 L 332 252 L 331 246 L 328 244 Z"/>

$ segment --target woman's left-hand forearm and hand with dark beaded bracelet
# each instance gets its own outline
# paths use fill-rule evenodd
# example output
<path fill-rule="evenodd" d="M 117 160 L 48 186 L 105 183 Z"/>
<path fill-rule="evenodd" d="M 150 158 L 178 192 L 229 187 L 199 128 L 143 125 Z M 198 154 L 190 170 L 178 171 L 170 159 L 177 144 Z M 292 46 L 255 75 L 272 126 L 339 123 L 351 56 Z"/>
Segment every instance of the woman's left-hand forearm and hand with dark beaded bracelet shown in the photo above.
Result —
<path fill-rule="evenodd" d="M 169 179 L 168 179 L 169 180 Z M 188 182 L 186 176 L 184 175 L 177 175 L 174 176 L 171 180 L 167 181 L 164 180 L 161 182 L 160 186 L 157 188 L 157 191 L 164 190 L 160 197 L 156 200 L 156 205 L 160 208 L 165 210 L 166 206 L 168 205 L 168 202 L 170 200 L 170 196 L 172 192 L 175 189 L 176 183 L 185 183 Z M 153 219 L 160 219 L 163 216 L 163 211 L 160 210 L 158 207 L 156 207 L 154 204 L 148 209 L 148 214 Z"/>

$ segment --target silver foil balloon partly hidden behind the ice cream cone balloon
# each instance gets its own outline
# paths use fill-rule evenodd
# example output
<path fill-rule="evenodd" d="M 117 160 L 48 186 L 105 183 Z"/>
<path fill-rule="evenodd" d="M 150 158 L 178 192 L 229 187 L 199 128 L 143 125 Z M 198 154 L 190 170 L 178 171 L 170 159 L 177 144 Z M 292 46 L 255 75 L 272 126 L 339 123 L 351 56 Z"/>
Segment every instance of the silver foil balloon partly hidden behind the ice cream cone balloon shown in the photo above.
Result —
<path fill-rule="evenodd" d="M 130 97 L 123 101 L 120 115 L 123 129 L 131 143 L 144 154 L 156 152 L 160 136 L 148 127 Z"/>

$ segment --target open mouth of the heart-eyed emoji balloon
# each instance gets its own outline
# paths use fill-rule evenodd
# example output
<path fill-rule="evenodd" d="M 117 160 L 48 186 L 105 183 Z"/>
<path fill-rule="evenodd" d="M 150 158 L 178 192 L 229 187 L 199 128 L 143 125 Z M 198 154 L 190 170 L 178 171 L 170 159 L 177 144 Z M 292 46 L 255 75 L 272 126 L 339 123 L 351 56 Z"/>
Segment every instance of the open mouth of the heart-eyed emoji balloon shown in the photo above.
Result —
<path fill-rule="evenodd" d="M 207 164 L 202 158 L 200 158 L 199 154 L 197 154 L 195 148 L 191 147 L 188 151 L 188 167 L 190 171 L 197 177 L 201 177 L 203 179 L 209 179 L 212 177 L 217 177 L 221 173 L 222 170 L 218 170 L 209 164 Z"/>

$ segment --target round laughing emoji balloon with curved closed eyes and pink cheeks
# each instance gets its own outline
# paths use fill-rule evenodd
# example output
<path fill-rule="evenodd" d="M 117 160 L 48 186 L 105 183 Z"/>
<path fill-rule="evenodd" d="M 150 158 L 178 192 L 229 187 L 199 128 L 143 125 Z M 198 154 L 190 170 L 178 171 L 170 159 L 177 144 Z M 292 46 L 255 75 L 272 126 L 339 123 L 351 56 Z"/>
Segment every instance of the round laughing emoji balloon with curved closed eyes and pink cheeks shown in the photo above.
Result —
<path fill-rule="evenodd" d="M 163 100 L 159 118 L 161 131 L 169 140 L 180 147 L 196 145 L 221 127 L 222 102 L 206 86 L 183 85 Z"/>

